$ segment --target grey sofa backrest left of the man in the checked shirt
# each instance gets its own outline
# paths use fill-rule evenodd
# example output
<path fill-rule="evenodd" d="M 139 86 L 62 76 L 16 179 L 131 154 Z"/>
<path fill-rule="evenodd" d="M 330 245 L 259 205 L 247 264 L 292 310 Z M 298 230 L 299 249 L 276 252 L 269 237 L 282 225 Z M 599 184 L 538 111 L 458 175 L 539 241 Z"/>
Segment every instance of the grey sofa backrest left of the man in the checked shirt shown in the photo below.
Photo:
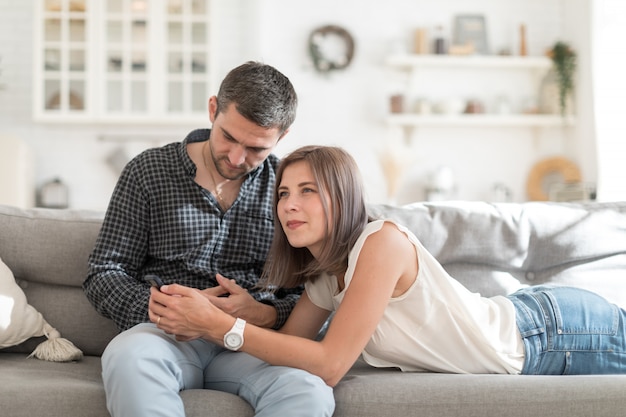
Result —
<path fill-rule="evenodd" d="M 82 290 L 103 217 L 98 211 L 0 206 L 0 257 L 29 304 L 86 355 L 101 354 L 117 334 Z M 30 353 L 40 341 L 9 349 Z"/>

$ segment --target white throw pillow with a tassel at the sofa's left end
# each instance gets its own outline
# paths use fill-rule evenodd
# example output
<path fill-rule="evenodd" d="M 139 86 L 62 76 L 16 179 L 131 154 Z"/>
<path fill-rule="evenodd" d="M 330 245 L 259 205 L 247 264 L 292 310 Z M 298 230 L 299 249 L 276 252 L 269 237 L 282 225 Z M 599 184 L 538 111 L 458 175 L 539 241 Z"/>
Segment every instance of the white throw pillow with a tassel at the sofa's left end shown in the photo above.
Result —
<path fill-rule="evenodd" d="M 67 362 L 80 360 L 83 353 L 28 304 L 13 273 L 0 259 L 0 348 L 19 345 L 31 337 L 46 336 L 30 355 L 38 359 Z"/>

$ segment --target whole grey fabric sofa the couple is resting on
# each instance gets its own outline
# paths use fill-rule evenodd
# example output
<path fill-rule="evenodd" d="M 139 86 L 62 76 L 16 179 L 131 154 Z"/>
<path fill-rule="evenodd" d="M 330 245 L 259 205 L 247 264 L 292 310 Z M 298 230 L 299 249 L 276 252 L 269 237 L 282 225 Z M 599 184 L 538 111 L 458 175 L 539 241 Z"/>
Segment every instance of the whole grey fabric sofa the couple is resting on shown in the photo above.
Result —
<path fill-rule="evenodd" d="M 409 226 L 451 274 L 490 296 L 527 284 L 589 288 L 626 305 L 626 203 L 372 205 Z M 83 295 L 103 213 L 0 206 L 0 258 L 28 301 L 85 354 L 54 363 L 27 356 L 30 339 L 0 351 L 3 416 L 107 416 L 99 355 L 116 334 Z M 626 410 L 624 376 L 401 373 L 362 362 L 335 389 L 336 416 L 607 416 Z M 236 396 L 182 392 L 188 416 L 251 416 Z"/>

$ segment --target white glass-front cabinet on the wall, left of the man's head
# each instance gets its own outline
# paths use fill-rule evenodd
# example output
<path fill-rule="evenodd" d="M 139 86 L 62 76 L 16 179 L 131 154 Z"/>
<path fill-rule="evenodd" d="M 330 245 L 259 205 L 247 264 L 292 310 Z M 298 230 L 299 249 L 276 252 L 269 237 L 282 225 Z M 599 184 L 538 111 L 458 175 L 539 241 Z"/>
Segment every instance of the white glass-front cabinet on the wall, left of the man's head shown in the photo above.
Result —
<path fill-rule="evenodd" d="M 211 0 L 37 3 L 38 120 L 206 120 Z"/>

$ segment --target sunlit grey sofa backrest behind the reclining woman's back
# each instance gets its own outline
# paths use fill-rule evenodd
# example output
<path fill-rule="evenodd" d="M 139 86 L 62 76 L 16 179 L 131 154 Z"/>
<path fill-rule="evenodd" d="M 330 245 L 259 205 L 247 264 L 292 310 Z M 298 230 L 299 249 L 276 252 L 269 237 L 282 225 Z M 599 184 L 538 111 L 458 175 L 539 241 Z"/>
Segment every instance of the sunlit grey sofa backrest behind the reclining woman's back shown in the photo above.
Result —
<path fill-rule="evenodd" d="M 407 226 L 470 290 L 538 284 L 595 291 L 626 306 L 626 202 L 433 202 L 372 205 Z"/>

